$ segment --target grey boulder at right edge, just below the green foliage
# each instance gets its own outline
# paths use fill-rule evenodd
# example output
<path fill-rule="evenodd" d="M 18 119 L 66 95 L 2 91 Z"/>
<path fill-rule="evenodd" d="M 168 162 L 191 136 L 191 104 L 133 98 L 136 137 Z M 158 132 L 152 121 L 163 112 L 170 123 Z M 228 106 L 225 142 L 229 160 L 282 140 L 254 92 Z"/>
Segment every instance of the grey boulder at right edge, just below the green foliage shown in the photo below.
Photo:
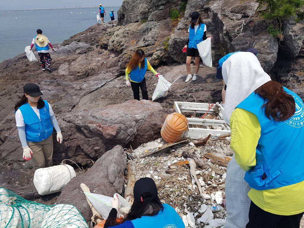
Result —
<path fill-rule="evenodd" d="M 296 23 L 294 18 L 284 21 L 283 35 L 282 46 L 286 50 L 287 56 L 297 57 L 304 41 L 304 21 Z"/>

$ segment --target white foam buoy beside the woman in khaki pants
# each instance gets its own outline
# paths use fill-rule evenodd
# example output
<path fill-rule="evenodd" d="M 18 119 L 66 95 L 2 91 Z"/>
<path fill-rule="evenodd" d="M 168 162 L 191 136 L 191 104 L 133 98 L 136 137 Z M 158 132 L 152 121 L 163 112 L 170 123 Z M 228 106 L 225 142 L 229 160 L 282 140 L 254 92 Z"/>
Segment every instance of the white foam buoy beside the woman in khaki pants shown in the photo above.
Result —
<path fill-rule="evenodd" d="M 61 192 L 76 173 L 70 165 L 56 165 L 35 171 L 34 185 L 40 195 Z"/>

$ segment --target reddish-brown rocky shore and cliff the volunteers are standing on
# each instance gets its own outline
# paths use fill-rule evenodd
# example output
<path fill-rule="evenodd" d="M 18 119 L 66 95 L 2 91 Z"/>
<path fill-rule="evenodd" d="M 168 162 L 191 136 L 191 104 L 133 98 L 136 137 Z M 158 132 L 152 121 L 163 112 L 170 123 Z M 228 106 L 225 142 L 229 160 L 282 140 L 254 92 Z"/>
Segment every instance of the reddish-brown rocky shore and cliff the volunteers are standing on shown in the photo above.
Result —
<path fill-rule="evenodd" d="M 13 109 L 27 82 L 40 86 L 64 136 L 62 144 L 54 138 L 54 164 L 68 158 L 82 166 L 116 145 L 136 148 L 159 138 L 175 100 L 219 102 L 222 83 L 215 79 L 216 63 L 225 53 L 256 48 L 272 79 L 304 98 L 303 21 L 287 20 L 279 45 L 268 34 L 268 23 L 257 13 L 255 1 L 188 0 L 184 16 L 172 21 L 169 10 L 179 9 L 182 2 L 124 0 L 118 20 L 97 23 L 54 45 L 52 73 L 42 72 L 40 64 L 30 63 L 25 53 L 0 64 L 0 186 L 27 199 L 40 197 L 33 186 L 31 163 L 22 158 Z M 200 12 L 207 36 L 213 38 L 214 67 L 202 65 L 198 79 L 185 83 L 186 57 L 181 49 L 193 10 Z M 243 21 L 246 25 L 238 36 L 235 30 Z M 132 90 L 125 85 L 125 65 L 137 48 L 145 51 L 154 69 L 168 81 L 181 76 L 157 102 L 132 100 Z M 157 78 L 150 72 L 146 78 L 151 97 Z"/>

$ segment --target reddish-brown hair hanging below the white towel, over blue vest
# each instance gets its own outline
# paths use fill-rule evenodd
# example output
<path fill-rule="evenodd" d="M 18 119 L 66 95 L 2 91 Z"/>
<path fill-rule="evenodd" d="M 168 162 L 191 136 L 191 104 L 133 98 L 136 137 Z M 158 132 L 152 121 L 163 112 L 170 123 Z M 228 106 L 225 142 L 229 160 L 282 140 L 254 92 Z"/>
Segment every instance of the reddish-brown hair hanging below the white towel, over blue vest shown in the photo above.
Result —
<path fill-rule="evenodd" d="M 292 95 L 285 92 L 283 86 L 276 81 L 268 81 L 255 90 L 267 102 L 265 115 L 275 121 L 285 121 L 295 114 L 295 100 Z"/>

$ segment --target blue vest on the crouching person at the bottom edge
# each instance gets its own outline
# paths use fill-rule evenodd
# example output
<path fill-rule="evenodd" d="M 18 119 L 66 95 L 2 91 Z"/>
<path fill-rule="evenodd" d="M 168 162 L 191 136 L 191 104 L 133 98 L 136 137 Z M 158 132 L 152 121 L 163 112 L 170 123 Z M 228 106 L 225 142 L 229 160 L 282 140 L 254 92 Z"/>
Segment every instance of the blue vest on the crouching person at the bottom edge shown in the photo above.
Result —
<path fill-rule="evenodd" d="M 131 220 L 135 228 L 185 228 L 183 220 L 168 204 L 163 204 L 164 210 L 160 210 L 154 216 L 141 216 Z"/>

